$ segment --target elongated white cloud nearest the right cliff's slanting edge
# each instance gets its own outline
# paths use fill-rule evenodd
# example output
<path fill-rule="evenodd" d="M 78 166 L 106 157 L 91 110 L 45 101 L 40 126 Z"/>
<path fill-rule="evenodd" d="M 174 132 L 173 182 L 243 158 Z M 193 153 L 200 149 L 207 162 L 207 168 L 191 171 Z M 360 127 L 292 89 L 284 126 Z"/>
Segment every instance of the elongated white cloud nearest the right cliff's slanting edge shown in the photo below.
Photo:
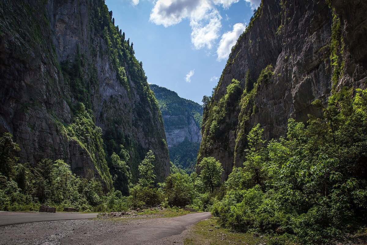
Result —
<path fill-rule="evenodd" d="M 238 37 L 244 32 L 246 27 L 242 23 L 233 25 L 233 30 L 222 35 L 217 49 L 217 60 L 224 60 L 228 58 L 231 48 L 236 44 Z"/>

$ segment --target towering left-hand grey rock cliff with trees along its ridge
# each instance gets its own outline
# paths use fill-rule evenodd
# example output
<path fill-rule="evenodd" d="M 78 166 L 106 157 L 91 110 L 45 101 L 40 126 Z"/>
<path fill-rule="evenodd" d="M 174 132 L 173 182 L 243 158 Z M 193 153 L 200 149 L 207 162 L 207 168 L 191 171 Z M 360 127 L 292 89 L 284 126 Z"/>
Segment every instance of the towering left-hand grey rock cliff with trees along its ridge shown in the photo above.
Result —
<path fill-rule="evenodd" d="M 13 134 L 21 160 L 64 159 L 109 189 L 112 152 L 128 152 L 137 180 L 152 149 L 163 180 L 170 170 L 158 104 L 104 1 L 0 5 L 0 133 Z"/>

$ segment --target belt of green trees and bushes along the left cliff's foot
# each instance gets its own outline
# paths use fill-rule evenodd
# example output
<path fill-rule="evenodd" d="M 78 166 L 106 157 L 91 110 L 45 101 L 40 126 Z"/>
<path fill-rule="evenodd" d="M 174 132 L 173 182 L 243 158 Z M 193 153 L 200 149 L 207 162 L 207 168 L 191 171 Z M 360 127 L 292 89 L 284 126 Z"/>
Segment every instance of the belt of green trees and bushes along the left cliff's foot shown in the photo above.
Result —
<path fill-rule="evenodd" d="M 43 159 L 31 167 L 29 163 L 19 162 L 18 151 L 19 146 L 10 133 L 0 137 L 0 210 L 38 210 L 41 204 L 56 206 L 58 211 L 73 207 L 86 212 L 121 212 L 156 206 L 203 210 L 207 208 L 221 175 L 221 164 L 208 158 L 203 160 L 207 165 L 203 167 L 203 173 L 207 174 L 197 176 L 192 173 L 189 176 L 176 172 L 163 183 L 155 184 L 155 155 L 148 151 L 139 164 L 139 179 L 134 185 L 128 166 L 113 153 L 113 165 L 120 171 L 114 181 L 127 187 L 129 195 L 114 189 L 105 194 L 101 180 L 92 170 L 80 177 L 72 173 L 70 165 L 63 160 L 50 159 Z"/>

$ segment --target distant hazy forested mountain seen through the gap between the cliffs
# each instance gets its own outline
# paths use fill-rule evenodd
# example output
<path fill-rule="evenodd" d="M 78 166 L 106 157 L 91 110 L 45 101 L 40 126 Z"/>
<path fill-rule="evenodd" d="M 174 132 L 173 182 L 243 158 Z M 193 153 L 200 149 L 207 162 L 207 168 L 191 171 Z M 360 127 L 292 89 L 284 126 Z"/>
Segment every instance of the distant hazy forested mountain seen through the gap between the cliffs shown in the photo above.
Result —
<path fill-rule="evenodd" d="M 186 172 L 193 172 L 201 142 L 203 106 L 155 84 L 150 84 L 150 89 L 162 112 L 171 161 Z"/>

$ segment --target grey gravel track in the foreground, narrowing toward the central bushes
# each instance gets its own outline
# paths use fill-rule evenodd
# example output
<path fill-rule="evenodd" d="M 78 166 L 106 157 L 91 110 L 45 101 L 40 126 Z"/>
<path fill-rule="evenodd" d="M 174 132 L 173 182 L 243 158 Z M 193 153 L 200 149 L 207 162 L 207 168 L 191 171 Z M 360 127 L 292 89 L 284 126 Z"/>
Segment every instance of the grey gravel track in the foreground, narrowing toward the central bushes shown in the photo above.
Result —
<path fill-rule="evenodd" d="M 0 244 L 183 244 L 188 228 L 211 215 L 189 213 L 173 218 L 63 220 L 0 227 Z"/>

